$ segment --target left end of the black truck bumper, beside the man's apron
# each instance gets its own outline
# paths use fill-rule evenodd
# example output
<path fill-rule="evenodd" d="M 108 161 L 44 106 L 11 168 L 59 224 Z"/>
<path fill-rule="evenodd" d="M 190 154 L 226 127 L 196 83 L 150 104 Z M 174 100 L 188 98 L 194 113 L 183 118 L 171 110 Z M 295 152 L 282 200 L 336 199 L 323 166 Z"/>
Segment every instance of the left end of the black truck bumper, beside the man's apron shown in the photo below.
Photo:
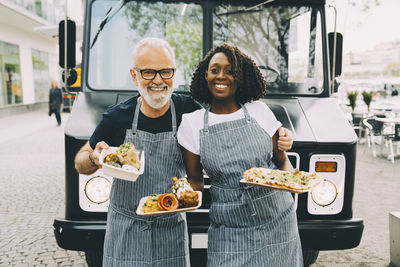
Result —
<path fill-rule="evenodd" d="M 106 221 L 55 219 L 54 236 L 59 247 L 68 250 L 103 250 Z"/>

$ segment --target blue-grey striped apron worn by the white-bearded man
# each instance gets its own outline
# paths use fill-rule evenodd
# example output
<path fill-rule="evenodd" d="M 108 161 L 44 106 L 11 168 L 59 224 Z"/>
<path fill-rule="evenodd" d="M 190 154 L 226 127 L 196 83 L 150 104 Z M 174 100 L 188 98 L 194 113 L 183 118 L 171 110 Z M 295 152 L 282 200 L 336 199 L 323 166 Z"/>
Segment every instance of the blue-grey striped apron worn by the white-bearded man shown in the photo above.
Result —
<path fill-rule="evenodd" d="M 172 177 L 183 177 L 185 167 L 176 139 L 176 114 L 170 101 L 172 132 L 152 134 L 137 129 L 136 106 L 125 142 L 144 149 L 144 173 L 130 182 L 114 179 L 111 188 L 103 266 L 189 266 L 186 216 L 183 213 L 143 217 L 136 214 L 142 197 L 170 192 Z"/>

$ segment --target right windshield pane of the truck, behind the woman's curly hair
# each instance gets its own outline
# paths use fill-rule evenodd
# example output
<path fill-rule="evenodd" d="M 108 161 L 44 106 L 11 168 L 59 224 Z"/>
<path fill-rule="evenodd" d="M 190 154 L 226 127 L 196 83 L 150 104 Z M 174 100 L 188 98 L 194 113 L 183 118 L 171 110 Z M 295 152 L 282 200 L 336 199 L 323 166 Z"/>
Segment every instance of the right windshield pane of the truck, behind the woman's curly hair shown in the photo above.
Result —
<path fill-rule="evenodd" d="M 312 7 L 221 4 L 214 10 L 214 45 L 239 46 L 260 67 L 269 94 L 323 91 L 321 18 Z M 271 79 L 270 76 L 275 76 Z"/>

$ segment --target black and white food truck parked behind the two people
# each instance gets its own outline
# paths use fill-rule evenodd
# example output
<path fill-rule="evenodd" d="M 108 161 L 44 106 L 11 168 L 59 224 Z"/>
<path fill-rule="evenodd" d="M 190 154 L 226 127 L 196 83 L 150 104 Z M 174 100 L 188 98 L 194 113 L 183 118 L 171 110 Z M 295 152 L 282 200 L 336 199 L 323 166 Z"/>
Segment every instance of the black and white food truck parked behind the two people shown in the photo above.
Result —
<path fill-rule="evenodd" d="M 268 84 L 262 101 L 293 133 L 292 165 L 325 179 L 293 194 L 305 265 L 321 250 L 358 246 L 364 223 L 353 218 L 357 136 L 332 97 L 342 56 L 342 35 L 328 32 L 334 11 L 325 0 L 87 0 L 81 91 L 65 128 L 65 216 L 54 220 L 58 245 L 84 251 L 89 266 L 101 266 L 113 178 L 101 170 L 78 174 L 74 157 L 108 107 L 138 94 L 131 50 L 153 36 L 175 51 L 178 94 L 189 94 L 197 63 L 219 43 L 255 60 Z M 192 266 L 206 264 L 209 188 L 206 177 L 202 206 L 187 212 Z"/>

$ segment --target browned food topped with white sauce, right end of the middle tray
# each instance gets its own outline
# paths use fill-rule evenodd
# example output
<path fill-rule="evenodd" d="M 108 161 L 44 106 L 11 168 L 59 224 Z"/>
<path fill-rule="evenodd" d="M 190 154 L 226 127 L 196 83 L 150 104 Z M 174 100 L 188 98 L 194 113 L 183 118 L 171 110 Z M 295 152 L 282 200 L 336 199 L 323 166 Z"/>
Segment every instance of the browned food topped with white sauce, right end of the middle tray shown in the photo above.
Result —
<path fill-rule="evenodd" d="M 199 195 L 193 190 L 186 178 L 173 177 L 172 181 L 174 184 L 171 187 L 171 192 L 178 198 L 180 207 L 195 207 L 199 204 Z"/>

